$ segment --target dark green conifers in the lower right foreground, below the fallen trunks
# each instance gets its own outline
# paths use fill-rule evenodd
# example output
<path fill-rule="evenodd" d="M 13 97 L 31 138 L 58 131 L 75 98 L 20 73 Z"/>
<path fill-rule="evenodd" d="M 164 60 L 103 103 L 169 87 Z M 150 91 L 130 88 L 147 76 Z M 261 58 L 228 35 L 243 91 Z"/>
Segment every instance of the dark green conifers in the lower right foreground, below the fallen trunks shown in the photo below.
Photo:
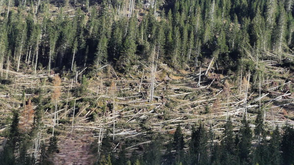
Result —
<path fill-rule="evenodd" d="M 262 124 L 263 120 L 255 120 L 255 124 Z M 273 130 L 255 127 L 252 130 L 244 119 L 239 131 L 233 130 L 233 123 L 229 119 L 223 126 L 224 132 L 218 139 L 220 143 L 213 143 L 212 128 L 198 124 L 191 128 L 191 136 L 182 133 L 177 126 L 170 143 L 161 143 L 163 137 L 157 135 L 148 144 L 145 154 L 138 156 L 132 153 L 126 156 L 123 149 L 119 159 L 109 152 L 111 139 L 102 144 L 102 165 L 111 162 L 113 165 L 291 165 L 294 163 L 294 128 L 286 125 L 279 131 L 278 126 Z M 261 130 L 259 130 L 261 129 Z M 259 134 L 253 132 L 261 131 Z M 185 140 L 186 139 L 186 140 Z M 189 140 L 187 140 L 189 139 Z M 253 143 L 252 143 L 253 142 Z M 108 164 L 109 165 L 109 164 Z"/>

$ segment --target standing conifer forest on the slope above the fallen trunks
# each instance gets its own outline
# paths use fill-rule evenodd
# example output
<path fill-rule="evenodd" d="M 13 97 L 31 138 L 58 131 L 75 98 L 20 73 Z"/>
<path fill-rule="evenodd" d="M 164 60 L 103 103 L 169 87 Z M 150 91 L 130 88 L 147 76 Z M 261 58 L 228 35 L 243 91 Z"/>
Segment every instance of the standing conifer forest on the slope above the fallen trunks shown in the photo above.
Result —
<path fill-rule="evenodd" d="M 62 8 L 78 2 L 84 5 L 73 15 Z M 292 0 L 157 0 L 143 13 L 129 9 L 127 15 L 128 1 L 78 2 L 36 1 L 35 7 L 1 1 L 1 67 L 36 72 L 110 62 L 126 72 L 155 54 L 178 69 L 215 57 L 229 71 L 243 58 L 282 61 L 293 48 Z M 54 4 L 60 9 L 52 14 Z M 134 5 L 140 9 L 143 2 Z"/>

